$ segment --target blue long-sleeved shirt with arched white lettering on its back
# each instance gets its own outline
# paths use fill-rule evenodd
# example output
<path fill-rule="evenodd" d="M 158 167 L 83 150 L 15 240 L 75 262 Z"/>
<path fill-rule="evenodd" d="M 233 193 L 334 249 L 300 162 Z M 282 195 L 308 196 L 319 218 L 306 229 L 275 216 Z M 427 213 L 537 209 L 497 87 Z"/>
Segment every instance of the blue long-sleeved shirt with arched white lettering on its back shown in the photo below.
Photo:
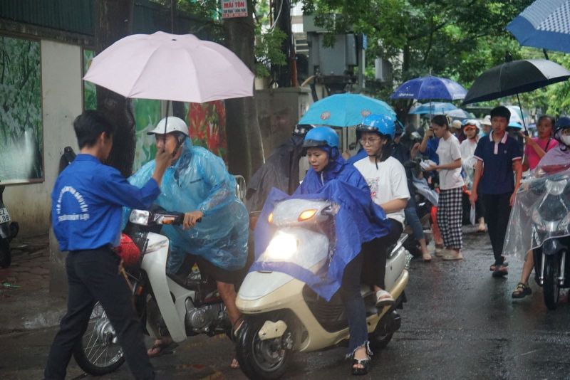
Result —
<path fill-rule="evenodd" d="M 90 154 L 78 154 L 51 193 L 51 221 L 60 250 L 118 246 L 123 206 L 148 209 L 160 188 L 154 179 L 138 188 Z"/>

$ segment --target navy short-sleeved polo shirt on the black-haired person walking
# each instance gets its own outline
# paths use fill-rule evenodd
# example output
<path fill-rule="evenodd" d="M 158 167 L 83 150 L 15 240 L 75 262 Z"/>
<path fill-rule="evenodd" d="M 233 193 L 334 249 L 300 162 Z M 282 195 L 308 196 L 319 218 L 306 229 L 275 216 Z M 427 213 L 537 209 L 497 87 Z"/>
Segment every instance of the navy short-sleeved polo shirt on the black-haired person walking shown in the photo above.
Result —
<path fill-rule="evenodd" d="M 483 162 L 483 175 L 479 184 L 482 194 L 506 194 L 514 191 L 512 163 L 522 159 L 515 139 L 507 133 L 499 142 L 493 141 L 493 132 L 482 137 L 475 148 L 475 158 Z"/>

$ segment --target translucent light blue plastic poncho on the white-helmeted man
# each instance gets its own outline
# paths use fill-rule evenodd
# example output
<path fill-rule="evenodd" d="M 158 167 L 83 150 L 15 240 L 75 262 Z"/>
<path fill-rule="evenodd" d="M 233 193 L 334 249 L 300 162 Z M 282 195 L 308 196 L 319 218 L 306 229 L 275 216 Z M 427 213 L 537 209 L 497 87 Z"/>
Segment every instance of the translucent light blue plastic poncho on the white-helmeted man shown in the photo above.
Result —
<path fill-rule="evenodd" d="M 186 139 L 180 158 L 162 177 L 160 196 L 155 204 L 167 211 L 202 211 L 195 227 L 163 226 L 170 239 L 168 269 L 176 273 L 185 255 L 199 255 L 219 268 L 237 270 L 247 260 L 249 216 L 237 199 L 236 181 L 221 158 Z M 142 186 L 152 176 L 155 161 L 145 164 L 129 181 Z"/>

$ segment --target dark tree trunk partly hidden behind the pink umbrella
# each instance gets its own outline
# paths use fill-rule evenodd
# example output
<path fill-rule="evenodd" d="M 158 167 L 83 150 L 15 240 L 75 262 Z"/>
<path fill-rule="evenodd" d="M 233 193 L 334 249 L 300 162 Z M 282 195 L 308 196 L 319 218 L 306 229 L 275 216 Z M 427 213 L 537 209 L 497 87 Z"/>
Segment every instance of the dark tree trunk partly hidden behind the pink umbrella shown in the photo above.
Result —
<path fill-rule="evenodd" d="M 132 33 L 133 0 L 97 0 L 95 3 L 95 51 L 100 53 Z M 107 164 L 130 176 L 135 159 L 135 118 L 130 101 L 97 86 L 97 109 L 115 124 L 113 149 Z"/>

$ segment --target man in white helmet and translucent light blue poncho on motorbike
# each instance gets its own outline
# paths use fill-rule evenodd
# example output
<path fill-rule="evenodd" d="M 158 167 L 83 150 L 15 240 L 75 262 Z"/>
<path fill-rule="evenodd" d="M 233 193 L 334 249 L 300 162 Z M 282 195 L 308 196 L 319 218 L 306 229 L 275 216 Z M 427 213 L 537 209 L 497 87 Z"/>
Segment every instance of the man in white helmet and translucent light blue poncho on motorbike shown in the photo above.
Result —
<path fill-rule="evenodd" d="M 165 149 L 173 157 L 155 204 L 185 213 L 182 226 L 162 229 L 171 244 L 167 270 L 187 275 L 190 269 L 187 258 L 192 255 L 191 261 L 197 262 L 200 273 L 216 280 L 234 326 L 233 333 L 240 320 L 234 285 L 242 280 L 249 228 L 247 210 L 235 193 L 236 181 L 221 158 L 207 149 L 192 146 L 188 127 L 180 118 L 165 117 L 148 134 L 155 135 L 157 149 Z M 154 161 L 145 164 L 129 181 L 144 183 L 154 167 Z M 147 354 L 157 357 L 171 352 L 174 346 L 172 338 L 165 336 L 157 339 Z M 237 366 L 234 359 L 232 368 Z"/>

